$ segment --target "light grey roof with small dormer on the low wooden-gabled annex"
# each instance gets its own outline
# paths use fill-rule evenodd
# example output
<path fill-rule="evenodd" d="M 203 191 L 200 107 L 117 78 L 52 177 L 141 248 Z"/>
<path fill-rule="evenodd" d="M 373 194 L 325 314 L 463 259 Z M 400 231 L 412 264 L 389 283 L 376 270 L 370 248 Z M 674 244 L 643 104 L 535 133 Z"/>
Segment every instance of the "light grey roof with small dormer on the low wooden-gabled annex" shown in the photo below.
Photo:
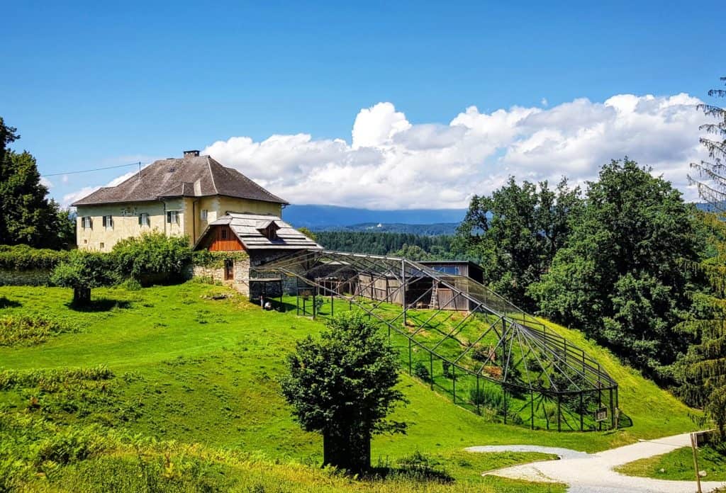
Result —
<path fill-rule="evenodd" d="M 268 239 L 262 231 L 270 223 L 277 226 L 277 239 Z M 229 225 L 237 238 L 242 241 L 245 249 L 321 249 L 322 247 L 312 241 L 300 231 L 285 223 L 274 215 L 266 214 L 237 214 L 230 212 L 216 221 L 209 223 L 204 233 L 197 241 L 197 245 L 203 242 L 207 232 L 214 226 Z"/>

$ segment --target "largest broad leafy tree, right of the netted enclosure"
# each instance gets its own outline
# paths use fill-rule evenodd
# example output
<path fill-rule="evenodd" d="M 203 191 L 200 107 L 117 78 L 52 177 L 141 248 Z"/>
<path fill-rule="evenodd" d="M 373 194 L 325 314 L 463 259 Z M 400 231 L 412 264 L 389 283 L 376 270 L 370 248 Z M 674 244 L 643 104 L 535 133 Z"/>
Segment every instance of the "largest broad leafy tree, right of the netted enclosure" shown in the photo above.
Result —
<path fill-rule="evenodd" d="M 695 210 L 648 168 L 624 159 L 588 183 L 566 247 L 529 294 L 550 318 L 582 328 L 627 362 L 667 378 L 687 339 L 672 328 L 694 286 L 681 268 L 696 260 Z"/>

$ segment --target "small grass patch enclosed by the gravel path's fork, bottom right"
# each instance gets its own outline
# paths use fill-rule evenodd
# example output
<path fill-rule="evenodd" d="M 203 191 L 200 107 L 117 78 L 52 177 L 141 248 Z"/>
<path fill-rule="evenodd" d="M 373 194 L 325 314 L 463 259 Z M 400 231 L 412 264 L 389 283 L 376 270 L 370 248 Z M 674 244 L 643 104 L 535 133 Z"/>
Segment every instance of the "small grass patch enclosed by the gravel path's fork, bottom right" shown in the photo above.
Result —
<path fill-rule="evenodd" d="M 726 481 L 726 455 L 712 447 L 698 449 L 698 469 L 706 471 L 703 481 Z M 628 476 L 644 478 L 693 481 L 696 471 L 693 465 L 693 451 L 683 447 L 664 455 L 635 460 L 616 469 Z"/>

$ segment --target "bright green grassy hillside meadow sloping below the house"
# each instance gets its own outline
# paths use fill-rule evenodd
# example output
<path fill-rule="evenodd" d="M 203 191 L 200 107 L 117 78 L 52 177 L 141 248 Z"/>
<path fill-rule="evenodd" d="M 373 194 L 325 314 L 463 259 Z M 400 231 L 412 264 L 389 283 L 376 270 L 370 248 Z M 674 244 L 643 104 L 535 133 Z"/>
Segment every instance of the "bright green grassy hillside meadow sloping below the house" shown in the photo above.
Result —
<path fill-rule="evenodd" d="M 227 299 L 211 299 L 214 294 Z M 68 289 L 0 287 L 0 318 L 53 320 L 33 336 L 0 324 L 2 491 L 561 492 L 563 485 L 481 473 L 550 458 L 465 447 L 540 444 L 586 452 L 694 429 L 694 413 L 577 331 L 547 323 L 619 382 L 633 426 L 567 432 L 503 425 L 452 404 L 403 371 L 406 435 L 378 436 L 385 479 L 321 469 L 322 439 L 293 421 L 277 378 L 295 341 L 321 320 L 265 312 L 222 286 L 94 289 L 78 311 Z M 404 365 L 402 365 L 404 368 Z M 409 468 L 425 463 L 435 478 Z M 438 479 L 437 479 L 438 478 Z"/>

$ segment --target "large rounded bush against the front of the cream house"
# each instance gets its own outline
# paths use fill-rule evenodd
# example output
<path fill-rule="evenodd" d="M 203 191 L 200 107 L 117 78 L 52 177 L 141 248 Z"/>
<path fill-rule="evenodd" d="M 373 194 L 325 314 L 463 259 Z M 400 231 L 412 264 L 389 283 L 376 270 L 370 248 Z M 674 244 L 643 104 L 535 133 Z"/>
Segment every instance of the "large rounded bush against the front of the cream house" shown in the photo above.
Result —
<path fill-rule="evenodd" d="M 163 233 L 121 240 L 114 245 L 112 255 L 119 276 L 134 278 L 142 285 L 180 281 L 192 261 L 186 237 L 168 237 Z"/>

